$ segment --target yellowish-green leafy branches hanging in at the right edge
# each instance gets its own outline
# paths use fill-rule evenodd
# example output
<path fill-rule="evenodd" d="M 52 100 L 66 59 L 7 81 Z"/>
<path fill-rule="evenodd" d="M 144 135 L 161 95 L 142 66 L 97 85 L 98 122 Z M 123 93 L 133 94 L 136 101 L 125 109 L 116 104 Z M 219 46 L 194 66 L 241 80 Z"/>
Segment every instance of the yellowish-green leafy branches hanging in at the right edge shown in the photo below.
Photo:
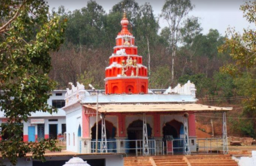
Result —
<path fill-rule="evenodd" d="M 240 8 L 244 12 L 244 17 L 251 23 L 256 24 L 256 1 L 246 2 Z M 235 63 L 230 63 L 221 68 L 223 73 L 229 73 L 234 77 L 241 77 L 244 71 L 255 72 L 256 70 L 256 31 L 244 29 L 240 34 L 235 29 L 229 28 L 225 44 L 219 47 L 219 52 L 226 52 Z M 250 86 L 255 87 L 256 84 Z M 256 116 L 256 89 L 252 89 L 250 98 L 244 102 L 244 111 L 250 112 L 250 116 Z"/>

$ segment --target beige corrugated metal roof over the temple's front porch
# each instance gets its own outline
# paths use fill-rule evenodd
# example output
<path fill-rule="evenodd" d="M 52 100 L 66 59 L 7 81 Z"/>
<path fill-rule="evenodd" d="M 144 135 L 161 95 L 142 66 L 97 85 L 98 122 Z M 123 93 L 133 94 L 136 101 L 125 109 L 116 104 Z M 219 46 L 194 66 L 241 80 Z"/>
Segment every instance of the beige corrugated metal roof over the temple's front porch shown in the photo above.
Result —
<path fill-rule="evenodd" d="M 84 107 L 96 110 L 95 104 Z M 141 112 L 219 112 L 230 111 L 231 107 L 214 107 L 202 104 L 101 104 L 100 113 L 141 113 Z"/>

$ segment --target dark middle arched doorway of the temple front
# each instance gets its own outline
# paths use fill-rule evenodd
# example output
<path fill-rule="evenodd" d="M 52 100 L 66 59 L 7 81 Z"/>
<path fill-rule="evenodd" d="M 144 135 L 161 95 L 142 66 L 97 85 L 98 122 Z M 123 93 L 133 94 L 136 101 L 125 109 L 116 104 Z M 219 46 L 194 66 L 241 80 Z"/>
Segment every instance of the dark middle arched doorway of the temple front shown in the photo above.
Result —
<path fill-rule="evenodd" d="M 152 135 L 152 128 L 147 123 L 147 136 L 151 137 Z M 129 140 L 143 140 L 143 120 L 135 120 L 131 124 L 129 124 L 129 127 L 127 128 L 127 136 Z M 127 145 L 129 148 L 130 153 L 135 153 L 136 150 L 136 141 L 130 141 L 129 145 Z M 142 144 L 140 145 L 138 143 L 138 148 L 142 147 Z"/>

